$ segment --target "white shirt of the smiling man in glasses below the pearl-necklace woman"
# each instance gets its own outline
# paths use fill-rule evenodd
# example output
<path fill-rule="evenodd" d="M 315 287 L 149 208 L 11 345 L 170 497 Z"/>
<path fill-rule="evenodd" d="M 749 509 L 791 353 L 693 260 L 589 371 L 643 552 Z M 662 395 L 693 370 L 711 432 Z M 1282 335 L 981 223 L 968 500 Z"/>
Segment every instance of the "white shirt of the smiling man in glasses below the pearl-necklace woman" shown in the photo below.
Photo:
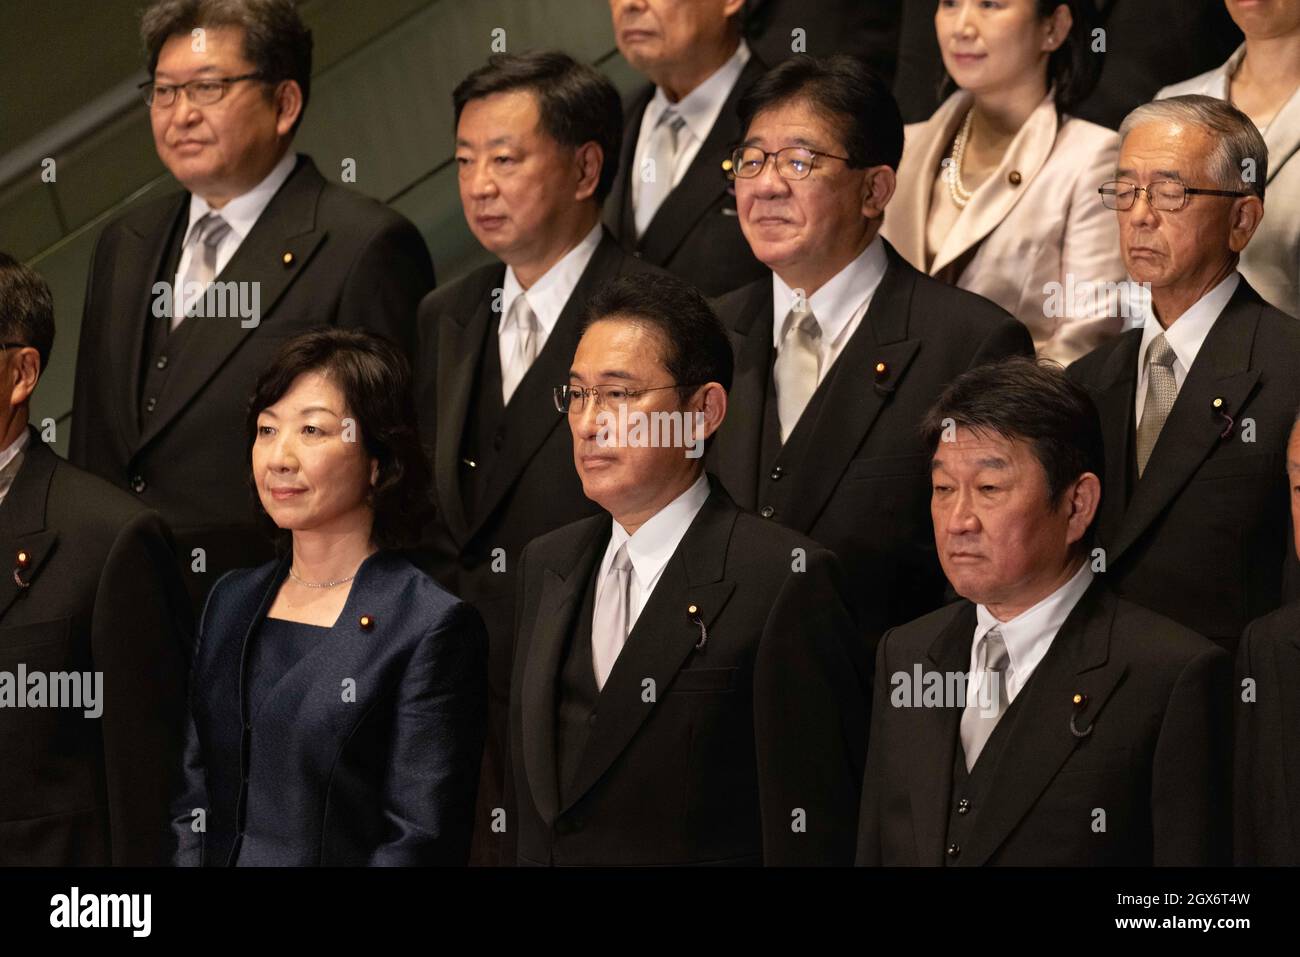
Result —
<path fill-rule="evenodd" d="M 889 259 L 885 256 L 884 241 L 878 234 L 857 259 L 837 272 L 829 282 L 809 296 L 807 306 L 822 330 L 818 351 L 818 385 L 831 371 L 832 363 L 840 358 L 845 345 L 853 338 L 862 324 L 862 317 L 871 307 L 871 299 L 880 287 Z M 781 348 L 785 332 L 785 317 L 794 308 L 794 290 L 772 273 L 772 345 Z"/>

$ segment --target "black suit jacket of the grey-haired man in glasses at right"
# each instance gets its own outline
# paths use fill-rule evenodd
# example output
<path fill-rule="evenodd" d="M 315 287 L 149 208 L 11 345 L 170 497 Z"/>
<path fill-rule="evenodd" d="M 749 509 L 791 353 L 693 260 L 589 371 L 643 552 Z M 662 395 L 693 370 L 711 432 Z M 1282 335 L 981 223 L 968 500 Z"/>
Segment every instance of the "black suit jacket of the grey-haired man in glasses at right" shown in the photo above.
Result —
<path fill-rule="evenodd" d="M 1132 329 L 1067 369 L 1101 412 L 1106 475 L 1097 541 L 1106 579 L 1124 598 L 1231 651 L 1247 623 L 1291 592 L 1283 586 L 1295 563 L 1286 446 L 1300 407 L 1300 324 L 1242 280 L 1138 481 L 1140 343 L 1141 329 Z"/>

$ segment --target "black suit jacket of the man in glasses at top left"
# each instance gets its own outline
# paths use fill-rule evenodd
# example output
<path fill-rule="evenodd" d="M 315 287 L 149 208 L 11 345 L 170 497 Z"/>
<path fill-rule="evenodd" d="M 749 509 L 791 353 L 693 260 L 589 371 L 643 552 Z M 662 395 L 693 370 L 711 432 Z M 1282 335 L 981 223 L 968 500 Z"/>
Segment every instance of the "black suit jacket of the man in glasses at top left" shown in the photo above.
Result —
<path fill-rule="evenodd" d="M 272 555 L 244 480 L 244 413 L 257 376 L 286 338 L 322 325 L 365 328 L 410 354 L 416 303 L 433 287 L 433 265 L 406 218 L 326 182 L 300 156 L 217 277 L 261 283 L 260 324 L 187 320 L 198 325 L 182 351 L 168 356 L 166 387 L 142 430 L 146 322 L 168 321 L 152 317 L 152 286 L 188 209 L 187 192 L 148 203 L 110 222 L 95 247 L 69 458 L 166 519 L 199 607 L 222 572 Z M 204 549 L 204 573 L 192 572 L 195 547 Z"/>

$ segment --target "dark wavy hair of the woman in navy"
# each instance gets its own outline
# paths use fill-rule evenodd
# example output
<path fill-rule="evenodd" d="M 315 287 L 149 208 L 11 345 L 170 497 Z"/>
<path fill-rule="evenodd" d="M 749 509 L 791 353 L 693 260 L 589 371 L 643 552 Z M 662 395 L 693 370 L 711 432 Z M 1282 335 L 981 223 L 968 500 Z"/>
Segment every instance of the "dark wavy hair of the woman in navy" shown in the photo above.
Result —
<path fill-rule="evenodd" d="M 381 335 L 360 329 L 320 329 L 286 342 L 261 373 L 248 403 L 248 449 L 257 416 L 280 402 L 299 376 L 316 372 L 343 394 L 368 456 L 378 459 L 372 492 L 374 544 L 413 545 L 433 515 L 433 472 L 416 428 L 411 367 Z M 252 477 L 256 494 L 256 477 Z"/>

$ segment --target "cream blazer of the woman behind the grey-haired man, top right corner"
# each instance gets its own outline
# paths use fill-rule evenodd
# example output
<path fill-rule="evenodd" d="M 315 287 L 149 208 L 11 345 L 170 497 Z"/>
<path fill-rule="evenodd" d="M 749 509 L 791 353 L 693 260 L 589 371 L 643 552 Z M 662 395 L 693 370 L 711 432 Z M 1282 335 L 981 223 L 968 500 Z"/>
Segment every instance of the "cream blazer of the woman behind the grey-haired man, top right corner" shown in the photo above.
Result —
<path fill-rule="evenodd" d="M 1242 44 L 1218 69 L 1166 86 L 1156 99 L 1204 94 L 1226 100 L 1228 81 L 1244 56 Z M 1264 142 L 1269 147 L 1264 220 L 1242 252 L 1238 268 L 1266 302 L 1300 317 L 1300 90 L 1264 130 Z"/>

